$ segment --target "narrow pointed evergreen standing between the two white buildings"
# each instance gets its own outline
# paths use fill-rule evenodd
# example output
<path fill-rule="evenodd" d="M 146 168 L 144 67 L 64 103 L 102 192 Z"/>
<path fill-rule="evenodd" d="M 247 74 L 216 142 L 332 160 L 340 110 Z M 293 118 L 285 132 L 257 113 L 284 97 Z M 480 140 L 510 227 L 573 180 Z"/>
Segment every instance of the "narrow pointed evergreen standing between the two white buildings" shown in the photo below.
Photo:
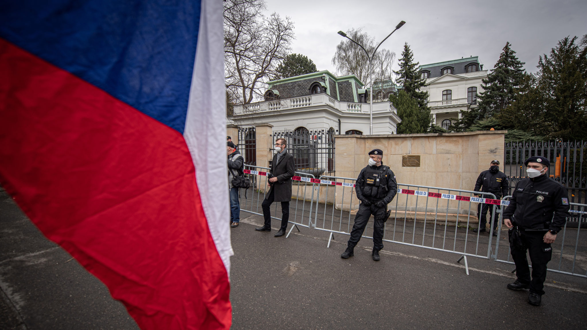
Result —
<path fill-rule="evenodd" d="M 419 122 L 420 132 L 410 133 L 427 133 L 430 130 L 430 124 L 432 116 L 430 115 L 430 108 L 427 106 L 428 92 L 421 92 L 422 87 L 426 87 L 426 79 L 422 78 L 418 68 L 420 62 L 414 63 L 414 54 L 411 52 L 410 45 L 407 42 L 404 44 L 402 51 L 402 58 L 399 59 L 400 69 L 394 71 L 397 75 L 397 83 L 403 85 L 402 89 L 406 92 L 406 95 L 416 101 L 416 118 Z M 396 106 L 397 108 L 397 106 Z M 398 113 L 399 113 L 399 108 Z M 403 120 L 403 118 L 402 118 Z M 401 126 L 401 125 L 400 125 Z M 412 127 L 413 129 L 414 127 Z M 410 129 L 410 131 L 412 130 Z M 399 130 L 398 130 L 399 133 Z"/>

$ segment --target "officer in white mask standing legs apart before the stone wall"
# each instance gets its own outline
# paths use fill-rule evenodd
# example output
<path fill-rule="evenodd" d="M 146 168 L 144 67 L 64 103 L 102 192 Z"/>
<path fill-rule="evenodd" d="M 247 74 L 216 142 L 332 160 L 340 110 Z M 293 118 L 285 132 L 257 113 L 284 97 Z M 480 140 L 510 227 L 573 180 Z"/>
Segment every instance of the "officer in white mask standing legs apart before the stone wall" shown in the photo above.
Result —
<path fill-rule="evenodd" d="M 383 151 L 373 149 L 369 151 L 369 166 L 362 169 L 355 184 L 357 198 L 361 201 L 359 211 L 355 216 L 355 224 L 350 232 L 348 247 L 340 255 L 341 258 L 352 257 L 353 249 L 359 243 L 367 221 L 373 214 L 373 253 L 372 258 L 379 261 L 379 250 L 383 248 L 383 226 L 390 211 L 389 204 L 397 193 L 396 176 L 389 166 L 383 165 Z"/>

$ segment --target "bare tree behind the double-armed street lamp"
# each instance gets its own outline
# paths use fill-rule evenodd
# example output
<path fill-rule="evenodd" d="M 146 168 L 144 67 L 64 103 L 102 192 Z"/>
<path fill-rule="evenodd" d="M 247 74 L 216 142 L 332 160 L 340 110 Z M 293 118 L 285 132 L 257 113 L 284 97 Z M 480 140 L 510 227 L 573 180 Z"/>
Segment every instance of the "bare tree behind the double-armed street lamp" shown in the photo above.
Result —
<path fill-rule="evenodd" d="M 351 39 L 365 47 L 369 55 L 373 53 L 377 44 L 375 38 L 363 33 L 362 29 L 350 29 L 346 33 Z M 380 49 L 373 56 L 372 66 L 369 68 L 369 58 L 365 51 L 349 39 L 344 39 L 336 46 L 332 64 L 342 75 L 355 75 L 363 83 L 367 83 L 369 75 L 373 73 L 373 81 L 392 79 L 392 65 L 396 53 L 387 49 Z"/>

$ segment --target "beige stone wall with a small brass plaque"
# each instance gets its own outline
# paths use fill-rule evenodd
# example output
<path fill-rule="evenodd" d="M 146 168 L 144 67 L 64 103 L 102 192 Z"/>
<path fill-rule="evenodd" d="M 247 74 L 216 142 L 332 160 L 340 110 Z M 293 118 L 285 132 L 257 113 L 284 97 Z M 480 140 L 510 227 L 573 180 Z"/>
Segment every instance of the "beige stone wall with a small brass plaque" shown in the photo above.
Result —
<path fill-rule="evenodd" d="M 337 135 L 336 176 L 356 178 L 360 170 L 367 166 L 367 153 L 372 149 L 381 149 L 384 154 L 383 163 L 393 170 L 398 183 L 473 190 L 479 173 L 489 169 L 491 160 L 497 159 L 504 163 L 506 132 L 502 130 L 373 136 Z M 404 155 L 420 156 L 420 166 L 403 167 Z M 345 200 L 342 200 L 339 195 L 342 196 L 337 192 L 336 204 L 348 209 L 350 198 L 345 197 Z M 404 195 L 404 198 L 397 201 L 398 208 L 414 211 L 414 201 L 415 198 L 411 198 L 406 203 Z M 473 203 L 474 210 L 469 210 L 469 203 L 461 203 L 461 206 L 458 206 L 457 201 L 450 201 L 448 204 L 447 201 L 442 200 L 441 206 L 444 210 L 448 208 L 449 213 L 476 214 L 477 204 Z M 357 202 L 355 198 L 353 205 L 358 205 Z M 394 201 L 390 207 L 393 209 L 395 205 Z M 424 211 L 425 207 L 420 208 L 420 205 L 419 203 L 417 211 Z M 430 211 L 430 207 L 426 211 Z"/>

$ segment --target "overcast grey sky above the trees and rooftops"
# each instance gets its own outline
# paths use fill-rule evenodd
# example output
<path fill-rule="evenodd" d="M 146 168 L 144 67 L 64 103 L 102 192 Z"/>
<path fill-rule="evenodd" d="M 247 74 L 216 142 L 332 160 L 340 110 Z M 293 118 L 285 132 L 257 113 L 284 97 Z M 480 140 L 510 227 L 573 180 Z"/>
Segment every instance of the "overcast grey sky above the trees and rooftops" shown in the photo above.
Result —
<path fill-rule="evenodd" d="M 404 42 L 421 65 L 479 56 L 484 69 L 492 69 L 509 41 L 529 72 L 560 39 L 587 33 L 586 0 L 267 0 L 267 6 L 294 21 L 292 52 L 333 73 L 332 56 L 342 39 L 336 32 L 350 28 L 362 27 L 379 43 L 406 21 L 381 46 L 396 53 L 394 69 Z"/>

